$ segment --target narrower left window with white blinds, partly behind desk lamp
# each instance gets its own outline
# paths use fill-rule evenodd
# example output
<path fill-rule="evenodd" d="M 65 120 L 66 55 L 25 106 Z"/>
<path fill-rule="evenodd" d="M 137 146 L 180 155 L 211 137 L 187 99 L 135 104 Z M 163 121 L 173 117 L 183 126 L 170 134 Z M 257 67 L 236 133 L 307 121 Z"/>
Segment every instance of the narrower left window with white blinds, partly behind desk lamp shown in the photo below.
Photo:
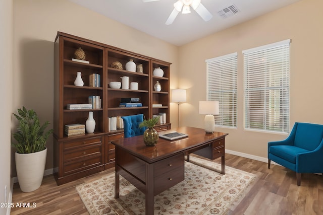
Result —
<path fill-rule="evenodd" d="M 232 53 L 207 59 L 207 100 L 219 101 L 216 125 L 237 127 L 237 59 Z"/>

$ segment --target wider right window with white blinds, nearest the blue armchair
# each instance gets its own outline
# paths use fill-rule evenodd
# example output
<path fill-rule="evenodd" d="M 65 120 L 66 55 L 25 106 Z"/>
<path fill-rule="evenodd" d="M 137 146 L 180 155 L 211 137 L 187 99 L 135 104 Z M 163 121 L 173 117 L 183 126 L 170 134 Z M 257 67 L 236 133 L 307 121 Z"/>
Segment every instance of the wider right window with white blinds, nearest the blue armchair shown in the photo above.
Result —
<path fill-rule="evenodd" d="M 246 129 L 289 132 L 290 40 L 244 50 Z"/>

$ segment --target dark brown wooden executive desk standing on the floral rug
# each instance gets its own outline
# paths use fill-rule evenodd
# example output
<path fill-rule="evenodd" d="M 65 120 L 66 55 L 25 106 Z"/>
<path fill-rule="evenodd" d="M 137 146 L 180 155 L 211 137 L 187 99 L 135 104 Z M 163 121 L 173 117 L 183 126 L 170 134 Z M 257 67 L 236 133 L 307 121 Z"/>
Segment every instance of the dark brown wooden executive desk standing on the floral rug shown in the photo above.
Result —
<path fill-rule="evenodd" d="M 173 129 L 172 129 L 173 130 Z M 204 129 L 180 127 L 188 137 L 179 140 L 159 138 L 155 147 L 147 147 L 143 136 L 113 140 L 116 146 L 115 198 L 119 198 L 119 176 L 122 175 L 146 196 L 146 214 L 154 212 L 154 196 L 184 180 L 184 156 L 197 154 L 211 160 L 222 157 L 225 174 L 225 136 L 206 134 Z"/>

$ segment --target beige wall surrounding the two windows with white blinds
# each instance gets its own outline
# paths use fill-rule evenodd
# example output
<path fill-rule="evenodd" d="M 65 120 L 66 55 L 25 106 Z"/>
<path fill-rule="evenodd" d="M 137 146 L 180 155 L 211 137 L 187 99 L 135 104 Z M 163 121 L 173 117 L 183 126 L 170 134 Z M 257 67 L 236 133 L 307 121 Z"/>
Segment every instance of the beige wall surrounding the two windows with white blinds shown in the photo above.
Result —
<path fill-rule="evenodd" d="M 321 0 L 303 0 L 180 47 L 179 87 L 188 89 L 188 101 L 181 105 L 181 123 L 203 127 L 198 101 L 206 99 L 205 59 L 238 52 L 238 128 L 217 130 L 229 133 L 226 149 L 266 158 L 267 142 L 286 135 L 243 129 L 242 50 L 290 38 L 290 126 L 296 121 L 323 124 L 322 8 Z"/>

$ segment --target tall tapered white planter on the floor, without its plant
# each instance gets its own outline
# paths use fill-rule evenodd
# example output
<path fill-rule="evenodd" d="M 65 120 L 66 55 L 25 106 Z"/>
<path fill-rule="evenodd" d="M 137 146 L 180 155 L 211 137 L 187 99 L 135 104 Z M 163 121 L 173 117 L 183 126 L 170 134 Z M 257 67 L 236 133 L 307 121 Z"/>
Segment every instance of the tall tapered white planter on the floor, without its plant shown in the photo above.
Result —
<path fill-rule="evenodd" d="M 44 176 L 47 148 L 40 152 L 19 154 L 16 152 L 16 170 L 21 191 L 38 189 Z"/>

